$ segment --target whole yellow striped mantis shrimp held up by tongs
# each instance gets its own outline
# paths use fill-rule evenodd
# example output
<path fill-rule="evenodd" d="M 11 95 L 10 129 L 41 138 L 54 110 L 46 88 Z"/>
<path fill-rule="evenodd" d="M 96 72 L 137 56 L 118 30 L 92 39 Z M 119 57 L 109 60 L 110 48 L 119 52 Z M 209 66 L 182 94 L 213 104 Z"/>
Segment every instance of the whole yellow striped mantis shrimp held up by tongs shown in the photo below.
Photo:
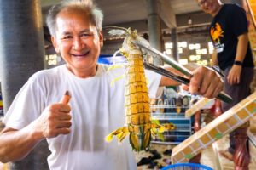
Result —
<path fill-rule="evenodd" d="M 164 129 L 173 129 L 174 126 L 161 126 L 151 122 L 148 87 L 143 66 L 143 54 L 131 40 L 137 41 L 136 31 L 128 29 L 125 41 L 120 49 L 121 54 L 126 57 L 127 65 L 125 71 L 125 117 L 126 127 L 120 127 L 106 137 L 111 141 L 117 136 L 119 142 L 130 133 L 130 144 L 133 150 L 145 150 L 148 148 L 151 136 Z M 145 40 L 146 41 L 146 40 Z"/>

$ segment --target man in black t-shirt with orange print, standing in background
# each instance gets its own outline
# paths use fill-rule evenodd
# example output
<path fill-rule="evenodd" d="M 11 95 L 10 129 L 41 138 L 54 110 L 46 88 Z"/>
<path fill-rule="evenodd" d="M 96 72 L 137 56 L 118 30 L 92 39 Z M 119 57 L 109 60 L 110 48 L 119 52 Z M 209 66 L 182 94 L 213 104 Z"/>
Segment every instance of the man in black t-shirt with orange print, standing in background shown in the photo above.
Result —
<path fill-rule="evenodd" d="M 220 0 L 197 0 L 201 9 L 211 14 L 210 36 L 215 48 L 212 64 L 224 71 L 224 92 L 233 98 L 230 104 L 222 103 L 223 111 L 245 99 L 253 81 L 253 54 L 248 41 L 247 16 L 237 4 L 224 4 Z M 243 125 L 248 126 L 248 123 Z M 230 133 L 230 148 L 220 153 L 233 160 L 236 131 Z"/>

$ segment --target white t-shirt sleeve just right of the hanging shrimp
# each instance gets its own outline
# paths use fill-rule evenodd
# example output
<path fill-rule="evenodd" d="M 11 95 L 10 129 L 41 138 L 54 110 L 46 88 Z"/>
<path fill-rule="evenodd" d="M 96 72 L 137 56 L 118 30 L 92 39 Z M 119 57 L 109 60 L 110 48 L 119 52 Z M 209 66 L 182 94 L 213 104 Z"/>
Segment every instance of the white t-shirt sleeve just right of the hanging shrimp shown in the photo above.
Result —
<path fill-rule="evenodd" d="M 161 75 L 154 71 L 145 70 L 146 77 L 148 79 L 148 95 L 149 98 L 155 98 L 157 90 L 160 86 Z"/>

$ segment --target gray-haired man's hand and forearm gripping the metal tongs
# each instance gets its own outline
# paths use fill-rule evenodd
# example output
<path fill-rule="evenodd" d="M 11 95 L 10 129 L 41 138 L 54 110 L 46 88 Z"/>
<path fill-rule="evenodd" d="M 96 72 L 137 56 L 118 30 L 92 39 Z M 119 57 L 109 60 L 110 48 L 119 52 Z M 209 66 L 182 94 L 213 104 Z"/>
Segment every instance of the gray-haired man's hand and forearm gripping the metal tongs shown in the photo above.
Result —
<path fill-rule="evenodd" d="M 166 68 L 165 68 L 166 69 Z M 169 71 L 176 70 L 168 68 Z M 181 73 L 178 73 L 182 75 Z M 180 82 L 176 82 L 168 77 L 162 77 L 160 81 L 160 86 L 177 86 Z M 213 70 L 208 69 L 204 66 L 199 66 L 193 71 L 193 77 L 190 78 L 189 86 L 183 86 L 191 94 L 200 94 L 207 98 L 215 98 L 224 87 L 224 82 L 222 78 Z"/>

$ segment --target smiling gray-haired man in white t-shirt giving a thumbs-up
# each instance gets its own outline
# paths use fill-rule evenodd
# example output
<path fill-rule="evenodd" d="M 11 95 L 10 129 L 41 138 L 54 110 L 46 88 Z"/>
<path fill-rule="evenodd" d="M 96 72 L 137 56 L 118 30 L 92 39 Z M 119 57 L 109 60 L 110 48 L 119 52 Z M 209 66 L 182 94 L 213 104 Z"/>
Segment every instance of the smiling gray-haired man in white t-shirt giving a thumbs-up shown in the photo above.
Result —
<path fill-rule="evenodd" d="M 16 95 L 3 119 L 0 161 L 19 161 L 43 139 L 51 154 L 50 169 L 137 169 L 126 138 L 106 143 L 108 133 L 125 123 L 125 80 L 111 81 L 125 68 L 108 71 L 97 64 L 103 45 L 102 11 L 90 0 L 61 1 L 49 10 L 47 24 L 55 51 L 65 65 L 38 71 Z M 146 71 L 149 96 L 159 86 L 179 85 Z M 205 67 L 194 71 L 189 92 L 214 98 L 223 88 L 218 74 Z M 61 103 L 66 90 L 69 103 Z"/>

